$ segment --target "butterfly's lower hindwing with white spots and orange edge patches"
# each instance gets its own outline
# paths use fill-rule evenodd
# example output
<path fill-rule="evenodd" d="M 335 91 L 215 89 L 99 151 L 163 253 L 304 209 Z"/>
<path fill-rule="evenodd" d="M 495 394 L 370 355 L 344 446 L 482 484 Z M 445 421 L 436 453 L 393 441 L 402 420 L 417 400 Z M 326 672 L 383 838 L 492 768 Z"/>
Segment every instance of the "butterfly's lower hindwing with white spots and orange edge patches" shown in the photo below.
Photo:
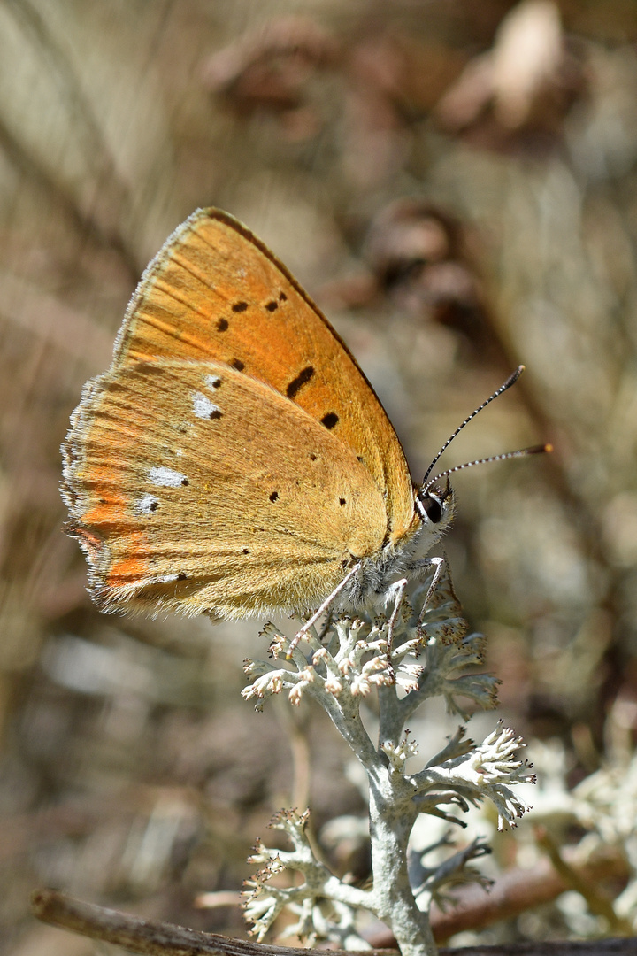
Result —
<path fill-rule="evenodd" d="M 89 382 L 64 479 L 105 610 L 305 610 L 386 531 L 354 449 L 220 362 L 130 361 Z"/>

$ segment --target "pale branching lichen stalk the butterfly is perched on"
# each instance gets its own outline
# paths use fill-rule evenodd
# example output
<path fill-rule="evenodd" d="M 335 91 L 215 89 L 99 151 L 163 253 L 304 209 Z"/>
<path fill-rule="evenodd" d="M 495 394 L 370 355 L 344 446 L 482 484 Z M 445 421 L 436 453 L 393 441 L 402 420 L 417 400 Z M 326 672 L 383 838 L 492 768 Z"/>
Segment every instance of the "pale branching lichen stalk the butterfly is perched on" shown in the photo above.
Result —
<path fill-rule="evenodd" d="M 308 812 L 275 817 L 272 826 L 287 834 L 292 850 L 269 850 L 260 842 L 252 857 L 264 865 L 246 884 L 245 915 L 259 939 L 287 908 L 297 917 L 287 933 L 310 944 L 328 939 L 366 948 L 356 930 L 356 915 L 368 910 L 392 927 L 403 956 L 435 953 L 429 905 L 445 902 L 449 888 L 458 882 L 480 880 L 469 864 L 488 848 L 478 839 L 431 867 L 421 861 L 414 885 L 407 845 L 416 818 L 430 814 L 462 825 L 460 815 L 487 800 L 498 813 L 501 829 L 515 826 L 526 809 L 512 788 L 533 777 L 517 756 L 521 741 L 510 728 L 499 726 L 479 745 L 458 728 L 421 770 L 408 771 L 418 747 L 406 722 L 425 700 L 441 696 L 449 711 L 463 719 L 468 717 L 467 700 L 482 708 L 496 704 L 498 682 L 475 672 L 483 662 L 484 639 L 467 634 L 446 566 L 438 564 L 437 569 L 434 587 L 432 573 L 413 598 L 418 611 L 404 602 L 393 634 L 388 635 L 385 619 L 342 617 L 331 622 L 323 641 L 311 628 L 297 645 L 267 625 L 271 661 L 245 664 L 252 683 L 244 697 L 255 699 L 258 707 L 284 692 L 291 704 L 307 697 L 324 707 L 364 768 L 370 790 L 371 887 L 337 879 L 314 856 L 306 836 Z M 378 701 L 375 743 L 360 714 L 362 701 L 372 692 Z M 284 870 L 296 871 L 303 881 L 274 886 L 272 877 Z"/>

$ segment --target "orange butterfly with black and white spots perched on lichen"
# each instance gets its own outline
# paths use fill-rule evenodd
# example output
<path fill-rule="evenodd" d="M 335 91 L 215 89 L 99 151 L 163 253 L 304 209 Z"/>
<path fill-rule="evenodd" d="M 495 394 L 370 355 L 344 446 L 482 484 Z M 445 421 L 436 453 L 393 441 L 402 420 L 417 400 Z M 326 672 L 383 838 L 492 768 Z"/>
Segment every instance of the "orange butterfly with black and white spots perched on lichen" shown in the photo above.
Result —
<path fill-rule="evenodd" d="M 414 573 L 454 512 L 456 469 L 445 489 L 414 485 L 328 319 L 213 208 L 143 273 L 62 453 L 66 531 L 107 612 L 360 607 Z"/>

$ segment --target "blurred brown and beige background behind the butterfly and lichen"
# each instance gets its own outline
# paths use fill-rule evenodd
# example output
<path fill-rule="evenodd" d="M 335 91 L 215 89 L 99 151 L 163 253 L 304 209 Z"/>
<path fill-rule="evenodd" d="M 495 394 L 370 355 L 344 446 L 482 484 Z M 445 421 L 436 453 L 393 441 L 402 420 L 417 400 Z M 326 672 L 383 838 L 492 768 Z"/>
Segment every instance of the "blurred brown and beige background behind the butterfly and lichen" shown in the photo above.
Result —
<path fill-rule="evenodd" d="M 636 42 L 630 0 L 2 0 L 12 953 L 93 951 L 32 921 L 43 884 L 242 933 L 236 906 L 195 901 L 240 888 L 276 809 L 309 802 L 317 830 L 364 812 L 320 715 L 242 702 L 242 661 L 265 654 L 258 622 L 101 616 L 61 532 L 58 448 L 81 385 L 107 367 L 146 262 L 197 206 L 242 219 L 316 298 L 416 479 L 527 366 L 444 462 L 555 452 L 457 475 L 446 554 L 488 637 L 501 714 L 528 740 L 561 742 L 569 785 L 630 750 Z M 494 939 L 567 931 L 553 914 Z"/>

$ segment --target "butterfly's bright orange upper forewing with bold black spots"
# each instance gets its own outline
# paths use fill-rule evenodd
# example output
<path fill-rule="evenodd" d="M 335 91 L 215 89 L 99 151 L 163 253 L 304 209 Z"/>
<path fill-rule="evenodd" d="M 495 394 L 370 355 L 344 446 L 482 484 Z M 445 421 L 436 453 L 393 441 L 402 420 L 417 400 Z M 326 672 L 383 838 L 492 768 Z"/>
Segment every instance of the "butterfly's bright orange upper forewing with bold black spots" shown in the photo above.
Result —
<path fill-rule="evenodd" d="M 195 212 L 142 276 L 113 370 L 158 359 L 214 359 L 267 382 L 369 470 L 387 541 L 414 528 L 409 469 L 372 386 L 286 267 L 227 213 Z"/>

